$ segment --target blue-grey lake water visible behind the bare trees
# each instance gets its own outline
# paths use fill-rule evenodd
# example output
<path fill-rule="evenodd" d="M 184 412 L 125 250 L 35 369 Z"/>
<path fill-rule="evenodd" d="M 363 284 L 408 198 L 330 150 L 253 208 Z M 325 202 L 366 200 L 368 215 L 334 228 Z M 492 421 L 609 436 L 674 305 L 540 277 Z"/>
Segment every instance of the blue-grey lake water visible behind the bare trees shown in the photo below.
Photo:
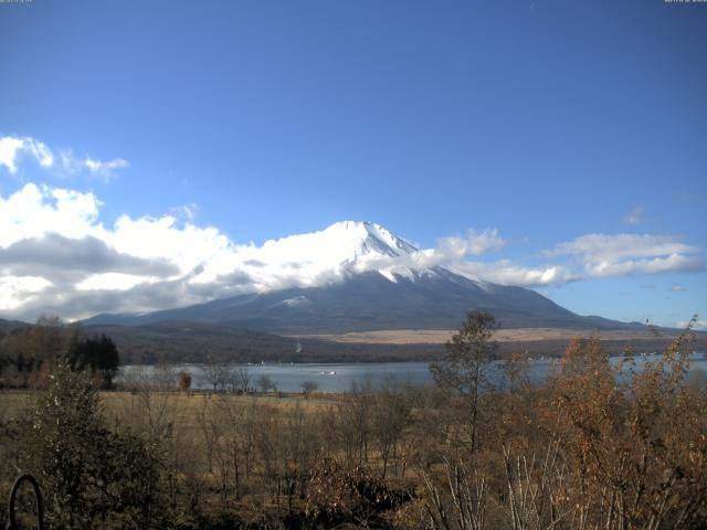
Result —
<path fill-rule="evenodd" d="M 636 356 L 636 368 L 640 370 L 646 362 L 657 361 L 661 354 Z M 612 363 L 621 360 L 613 357 Z M 707 358 L 704 353 L 693 353 L 690 359 L 689 378 L 707 380 Z M 535 384 L 545 382 L 551 365 L 557 359 L 532 359 L 529 365 L 529 378 Z M 230 368 L 235 370 L 240 364 Z M 399 384 L 425 385 L 433 382 L 428 362 L 369 362 L 369 363 L 302 363 L 302 364 L 244 364 L 250 373 L 250 385 L 255 386 L 257 378 L 265 374 L 270 377 L 282 392 L 302 392 L 302 383 L 313 381 L 318 385 L 319 392 L 348 392 L 352 385 L 362 386 L 370 383 L 373 388 L 380 388 L 386 382 L 394 381 Z M 192 377 L 192 389 L 211 389 L 199 364 L 176 364 L 170 367 L 175 372 L 181 370 Z M 124 377 L 129 379 L 140 373 L 144 378 L 155 378 L 158 369 L 154 365 L 127 365 L 122 369 L 118 381 Z M 130 375 L 131 374 L 131 375 Z M 500 361 L 492 363 L 489 379 L 499 388 L 505 382 L 502 375 Z"/>

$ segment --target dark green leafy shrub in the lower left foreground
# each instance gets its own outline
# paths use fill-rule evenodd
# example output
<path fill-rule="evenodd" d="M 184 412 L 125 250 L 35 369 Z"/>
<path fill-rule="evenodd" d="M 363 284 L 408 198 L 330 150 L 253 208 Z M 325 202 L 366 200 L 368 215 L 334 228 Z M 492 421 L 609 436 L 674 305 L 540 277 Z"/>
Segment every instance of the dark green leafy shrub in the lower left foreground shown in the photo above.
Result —
<path fill-rule="evenodd" d="M 56 528 L 154 528 L 160 510 L 154 452 L 109 431 L 92 379 L 59 363 L 29 411 L 28 468 L 40 479 Z"/>

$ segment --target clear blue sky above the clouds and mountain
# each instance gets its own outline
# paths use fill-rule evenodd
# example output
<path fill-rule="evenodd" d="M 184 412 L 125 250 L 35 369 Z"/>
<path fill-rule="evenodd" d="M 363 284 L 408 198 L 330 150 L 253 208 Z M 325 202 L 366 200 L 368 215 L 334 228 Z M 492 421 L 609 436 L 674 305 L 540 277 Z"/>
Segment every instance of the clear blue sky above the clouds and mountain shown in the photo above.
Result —
<path fill-rule="evenodd" d="M 496 230 L 474 261 L 568 267 L 530 286 L 672 325 L 707 314 L 706 49 L 707 4 L 662 0 L 2 3 L 0 137 L 71 161 L 18 155 L 0 197 L 91 193 L 106 227 L 189 205 L 234 244 L 346 219 L 423 247 Z M 616 241 L 639 247 L 597 250 Z"/>

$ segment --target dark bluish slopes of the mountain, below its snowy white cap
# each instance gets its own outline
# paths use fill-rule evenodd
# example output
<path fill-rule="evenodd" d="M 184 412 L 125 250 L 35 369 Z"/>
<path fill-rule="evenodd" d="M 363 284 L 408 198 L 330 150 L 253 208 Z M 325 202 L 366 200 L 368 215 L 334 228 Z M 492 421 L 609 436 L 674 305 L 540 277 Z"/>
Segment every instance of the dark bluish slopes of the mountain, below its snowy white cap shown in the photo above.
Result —
<path fill-rule="evenodd" d="M 453 274 L 453 273 L 449 273 Z M 399 277 L 360 273 L 324 287 L 293 287 L 240 295 L 146 315 L 99 315 L 86 325 L 143 326 L 169 321 L 219 324 L 279 333 L 380 329 L 455 329 L 472 309 L 492 311 L 500 326 L 619 329 L 635 327 L 582 317 L 529 289 L 499 286 L 493 293 L 461 276 Z"/>

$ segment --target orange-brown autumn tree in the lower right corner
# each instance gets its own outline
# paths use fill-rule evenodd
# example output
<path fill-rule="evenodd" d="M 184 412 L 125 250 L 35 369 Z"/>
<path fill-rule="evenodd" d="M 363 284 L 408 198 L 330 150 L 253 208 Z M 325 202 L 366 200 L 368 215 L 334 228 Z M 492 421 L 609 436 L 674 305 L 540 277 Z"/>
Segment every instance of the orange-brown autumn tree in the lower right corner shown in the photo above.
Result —
<path fill-rule="evenodd" d="M 684 384 L 688 335 L 662 359 L 616 368 L 576 339 L 551 380 L 581 518 L 592 528 L 696 528 L 707 516 L 707 394 Z M 622 382 L 623 381 L 623 382 Z"/>

